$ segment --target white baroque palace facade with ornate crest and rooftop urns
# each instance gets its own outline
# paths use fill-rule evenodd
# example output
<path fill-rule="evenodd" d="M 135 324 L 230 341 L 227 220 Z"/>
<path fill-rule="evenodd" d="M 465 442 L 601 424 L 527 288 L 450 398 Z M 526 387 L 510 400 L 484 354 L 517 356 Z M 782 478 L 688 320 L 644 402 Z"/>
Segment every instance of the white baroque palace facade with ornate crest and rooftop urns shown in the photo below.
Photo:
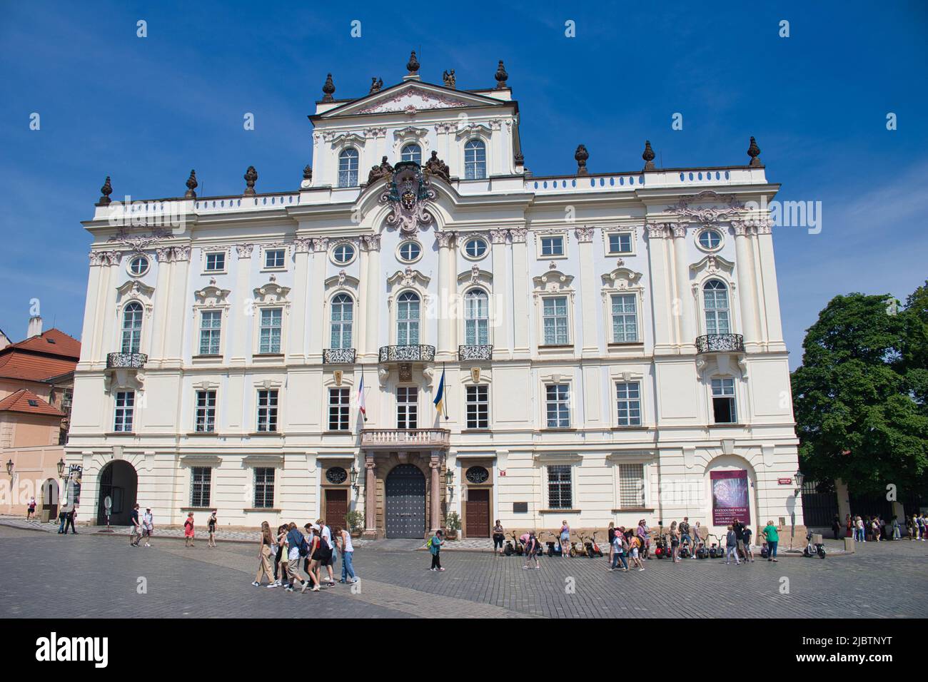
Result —
<path fill-rule="evenodd" d="M 407 71 L 354 99 L 329 77 L 297 191 L 249 168 L 197 197 L 191 173 L 126 206 L 107 178 L 67 446 L 84 520 L 109 497 L 114 523 L 136 500 L 161 524 L 357 510 L 378 537 L 452 512 L 465 537 L 801 526 L 754 139 L 749 165 L 658 169 L 648 144 L 591 174 L 581 145 L 533 176 L 502 62 L 477 90 Z"/>

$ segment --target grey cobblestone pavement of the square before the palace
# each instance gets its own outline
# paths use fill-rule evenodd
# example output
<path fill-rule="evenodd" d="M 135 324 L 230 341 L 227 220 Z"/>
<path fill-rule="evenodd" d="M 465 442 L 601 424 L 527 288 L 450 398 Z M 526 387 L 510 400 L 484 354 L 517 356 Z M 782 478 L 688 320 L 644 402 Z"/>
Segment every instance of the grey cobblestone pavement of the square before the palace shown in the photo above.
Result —
<path fill-rule="evenodd" d="M 290 594 L 250 585 L 254 547 L 202 539 L 187 548 L 155 538 L 129 547 L 119 536 L 61 536 L 0 526 L 2 617 L 921 617 L 928 587 L 928 543 L 868 543 L 827 560 L 719 560 L 609 573 L 606 560 L 522 558 L 443 552 L 430 557 L 385 544 L 359 548 L 360 590 L 336 585 Z M 336 566 L 341 571 L 341 563 Z M 147 593 L 138 594 L 144 583 Z M 781 590 L 788 589 L 788 592 Z"/>

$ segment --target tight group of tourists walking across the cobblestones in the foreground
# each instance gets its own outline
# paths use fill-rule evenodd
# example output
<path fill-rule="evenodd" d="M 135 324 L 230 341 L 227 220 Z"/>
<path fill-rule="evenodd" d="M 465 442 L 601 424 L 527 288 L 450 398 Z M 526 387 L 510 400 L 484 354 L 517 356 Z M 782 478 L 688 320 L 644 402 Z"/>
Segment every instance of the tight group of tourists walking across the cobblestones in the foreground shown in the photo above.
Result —
<path fill-rule="evenodd" d="M 285 523 L 271 531 L 267 521 L 261 524 L 261 539 L 258 545 L 258 572 L 251 585 L 261 587 L 266 576 L 265 587 L 284 587 L 293 592 L 297 587 L 305 592 L 312 585 L 313 592 L 335 585 L 335 562 L 342 558 L 342 579 L 339 583 L 356 583 L 354 574 L 354 545 L 351 533 L 336 527 L 334 533 L 322 519 L 306 523 L 303 530 L 296 523 Z M 271 560 L 274 560 L 273 570 Z M 303 577 L 301 573 L 303 564 Z"/>

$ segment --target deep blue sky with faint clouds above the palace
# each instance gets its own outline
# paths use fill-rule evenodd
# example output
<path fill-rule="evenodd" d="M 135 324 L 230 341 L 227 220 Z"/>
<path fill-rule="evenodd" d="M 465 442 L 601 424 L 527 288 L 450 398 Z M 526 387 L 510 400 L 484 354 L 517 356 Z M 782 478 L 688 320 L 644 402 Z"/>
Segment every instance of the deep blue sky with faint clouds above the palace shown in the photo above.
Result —
<path fill-rule="evenodd" d="M 904 298 L 928 277 L 920 0 L 309 5 L 0 0 L 0 328 L 21 339 L 38 298 L 46 328 L 80 336 L 80 221 L 106 175 L 137 199 L 182 194 L 191 168 L 201 195 L 240 192 L 249 165 L 259 191 L 295 189 L 326 73 L 335 97 L 361 96 L 372 76 L 398 82 L 414 48 L 424 80 L 455 69 L 464 89 L 505 60 L 535 174 L 572 173 L 581 142 L 593 173 L 638 170 L 645 139 L 666 167 L 741 164 L 755 135 L 779 199 L 823 205 L 820 234 L 774 231 L 793 367 L 832 296 Z"/>

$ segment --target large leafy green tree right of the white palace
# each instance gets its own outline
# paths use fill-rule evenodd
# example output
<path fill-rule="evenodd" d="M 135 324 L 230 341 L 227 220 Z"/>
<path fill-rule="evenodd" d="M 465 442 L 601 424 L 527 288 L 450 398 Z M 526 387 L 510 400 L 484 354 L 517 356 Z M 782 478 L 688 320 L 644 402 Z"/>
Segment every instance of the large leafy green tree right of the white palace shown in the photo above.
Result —
<path fill-rule="evenodd" d="M 836 296 L 806 331 L 793 409 L 811 480 L 840 478 L 856 493 L 885 492 L 889 483 L 905 493 L 923 483 L 928 415 L 917 382 L 928 344 L 916 318 L 928 294 L 916 294 L 905 308 L 888 295 Z"/>

